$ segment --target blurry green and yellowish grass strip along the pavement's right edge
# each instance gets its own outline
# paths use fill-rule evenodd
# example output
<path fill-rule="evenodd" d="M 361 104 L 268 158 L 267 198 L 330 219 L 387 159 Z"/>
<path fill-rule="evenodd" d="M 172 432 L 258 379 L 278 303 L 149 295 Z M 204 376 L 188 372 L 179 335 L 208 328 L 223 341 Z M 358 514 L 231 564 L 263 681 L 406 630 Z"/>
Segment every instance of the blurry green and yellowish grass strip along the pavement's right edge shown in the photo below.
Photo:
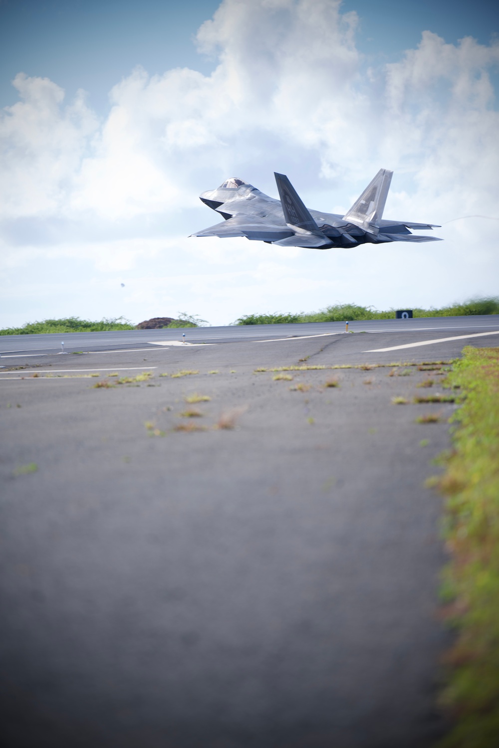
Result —
<path fill-rule="evenodd" d="M 444 616 L 456 629 L 441 703 L 455 716 L 439 748 L 499 741 L 499 348 L 463 349 L 449 375 L 462 407 L 436 485 L 447 497 Z"/>

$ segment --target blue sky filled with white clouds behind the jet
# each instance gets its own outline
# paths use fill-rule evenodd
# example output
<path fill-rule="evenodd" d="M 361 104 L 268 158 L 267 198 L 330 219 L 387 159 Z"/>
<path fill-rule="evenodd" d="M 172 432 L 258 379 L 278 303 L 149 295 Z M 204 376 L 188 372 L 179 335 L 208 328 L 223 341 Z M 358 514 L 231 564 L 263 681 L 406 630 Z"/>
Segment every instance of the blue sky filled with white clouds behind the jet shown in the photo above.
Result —
<path fill-rule="evenodd" d="M 0 328 L 499 295 L 498 32 L 485 0 L 0 0 Z M 227 177 L 343 213 L 379 168 L 443 242 L 189 237 Z"/>

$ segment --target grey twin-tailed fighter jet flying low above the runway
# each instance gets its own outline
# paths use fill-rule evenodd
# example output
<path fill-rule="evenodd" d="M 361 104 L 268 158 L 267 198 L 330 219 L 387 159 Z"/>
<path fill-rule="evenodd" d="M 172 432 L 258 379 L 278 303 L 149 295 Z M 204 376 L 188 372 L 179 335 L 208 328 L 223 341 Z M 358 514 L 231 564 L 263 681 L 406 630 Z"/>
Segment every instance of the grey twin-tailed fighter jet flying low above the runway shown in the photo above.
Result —
<path fill-rule="evenodd" d="M 383 242 L 435 242 L 436 236 L 417 236 L 409 229 L 432 229 L 437 224 L 388 221 L 382 218 L 393 172 L 380 169 L 345 215 L 307 209 L 290 180 L 274 174 L 279 197 L 260 192 L 233 177 L 200 200 L 223 215 L 225 221 L 191 236 L 245 236 L 279 247 L 356 247 Z"/>

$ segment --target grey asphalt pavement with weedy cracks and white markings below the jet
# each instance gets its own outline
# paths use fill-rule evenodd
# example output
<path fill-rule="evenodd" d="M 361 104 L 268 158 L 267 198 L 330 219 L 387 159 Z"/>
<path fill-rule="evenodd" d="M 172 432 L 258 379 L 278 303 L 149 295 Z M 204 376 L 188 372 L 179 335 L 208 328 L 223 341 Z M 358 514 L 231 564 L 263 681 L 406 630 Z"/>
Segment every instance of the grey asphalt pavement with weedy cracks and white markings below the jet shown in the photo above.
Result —
<path fill-rule="evenodd" d="M 499 325 L 401 322 L 2 355 L 2 745 L 435 744 L 450 634 L 424 481 L 456 405 L 412 399 L 448 395 L 429 363 Z"/>

